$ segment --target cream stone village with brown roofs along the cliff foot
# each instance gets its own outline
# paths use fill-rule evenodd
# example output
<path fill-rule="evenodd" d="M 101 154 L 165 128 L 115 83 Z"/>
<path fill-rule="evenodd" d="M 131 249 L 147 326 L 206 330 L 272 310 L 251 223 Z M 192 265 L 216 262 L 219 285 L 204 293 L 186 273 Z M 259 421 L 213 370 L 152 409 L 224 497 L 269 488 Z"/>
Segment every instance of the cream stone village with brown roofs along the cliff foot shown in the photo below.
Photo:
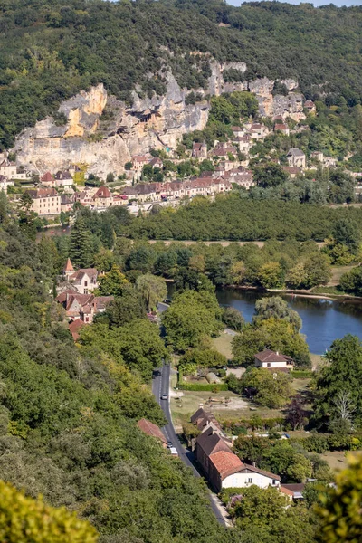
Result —
<path fill-rule="evenodd" d="M 316 110 L 310 100 L 304 103 L 304 108 L 310 113 Z M 75 203 L 100 212 L 111 206 L 133 204 L 130 212 L 138 213 L 139 208 L 148 210 L 155 203 L 166 205 L 168 202 L 168 205 L 177 205 L 183 198 L 190 199 L 197 195 L 214 197 L 216 194 L 227 193 L 233 186 L 249 190 L 254 186 L 252 170 L 249 168 L 250 149 L 271 132 L 289 136 L 291 130 L 287 117 L 287 111 L 284 116 L 276 116 L 272 129 L 262 122 L 233 126 L 233 138 L 227 142 L 215 141 L 214 148 L 210 150 L 205 142 L 194 143 L 193 148 L 186 151 L 188 158 L 199 162 L 209 159 L 214 165 L 214 171 L 204 171 L 201 176 L 189 176 L 180 180 L 174 172 L 168 172 L 165 182 L 142 182 L 145 167 L 164 173 L 163 160 L 148 153 L 132 157 L 120 183 L 107 184 L 103 181 L 101 186 L 87 182 L 81 185 L 78 179 L 75 181 L 76 175 L 81 171 L 79 166 L 73 165 L 66 171 L 25 171 L 4 152 L 0 153 L 0 190 L 15 193 L 12 196 L 15 199 L 14 186 L 24 187 L 33 199 L 33 212 L 45 217 L 71 212 Z M 303 127 L 297 128 L 300 129 Z M 180 160 L 170 156 L 169 160 L 177 165 L 185 158 Z M 291 179 L 303 175 L 307 167 L 316 169 L 318 164 L 322 167 L 337 165 L 335 158 L 324 157 L 319 151 L 312 152 L 307 158 L 299 148 L 290 148 L 287 160 L 288 166 L 282 167 Z M 87 173 L 84 173 L 86 177 Z M 91 179 L 91 176 L 89 177 Z M 9 187 L 12 189 L 9 190 Z"/>

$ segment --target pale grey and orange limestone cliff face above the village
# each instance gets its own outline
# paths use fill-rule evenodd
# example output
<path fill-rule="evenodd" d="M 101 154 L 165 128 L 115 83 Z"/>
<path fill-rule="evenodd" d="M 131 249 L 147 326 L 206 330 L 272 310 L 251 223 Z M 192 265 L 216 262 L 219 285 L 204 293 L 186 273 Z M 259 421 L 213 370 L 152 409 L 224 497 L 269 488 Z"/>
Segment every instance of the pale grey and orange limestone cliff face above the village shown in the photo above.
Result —
<path fill-rule="evenodd" d="M 230 68 L 246 71 L 243 62 L 210 63 L 212 75 L 204 94 L 220 95 L 235 90 L 250 90 L 259 102 L 262 116 L 283 115 L 300 120 L 304 117 L 302 95 L 272 96 L 274 81 L 224 82 L 223 71 Z M 289 90 L 297 81 L 286 80 Z M 108 96 L 103 85 L 81 91 L 59 108 L 64 126 L 49 117 L 35 127 L 25 129 L 16 139 L 14 151 L 19 165 L 37 170 L 67 169 L 71 165 L 87 165 L 90 173 L 105 178 L 109 172 L 122 174 L 124 165 L 134 155 L 145 154 L 151 148 L 175 148 L 184 133 L 205 128 L 209 104 L 207 101 L 186 106 L 188 90 L 180 89 L 168 72 L 165 96 L 141 100 L 134 92 L 131 108 Z M 61 119 L 61 117 L 59 117 Z"/>

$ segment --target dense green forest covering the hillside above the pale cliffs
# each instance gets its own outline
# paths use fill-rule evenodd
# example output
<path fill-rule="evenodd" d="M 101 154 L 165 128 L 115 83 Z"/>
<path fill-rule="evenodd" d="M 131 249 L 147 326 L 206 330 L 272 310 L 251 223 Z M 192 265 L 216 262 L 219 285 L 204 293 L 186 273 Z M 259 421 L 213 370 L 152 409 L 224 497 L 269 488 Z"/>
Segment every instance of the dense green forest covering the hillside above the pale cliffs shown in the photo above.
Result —
<path fill-rule="evenodd" d="M 182 87 L 205 87 L 209 58 L 246 62 L 230 81 L 295 77 L 306 97 L 361 99 L 361 7 L 315 9 L 220 0 L 5 0 L 0 7 L 0 142 L 60 102 L 104 82 L 120 99 L 162 94 L 170 68 Z M 195 54 L 199 52 L 199 54 Z"/>

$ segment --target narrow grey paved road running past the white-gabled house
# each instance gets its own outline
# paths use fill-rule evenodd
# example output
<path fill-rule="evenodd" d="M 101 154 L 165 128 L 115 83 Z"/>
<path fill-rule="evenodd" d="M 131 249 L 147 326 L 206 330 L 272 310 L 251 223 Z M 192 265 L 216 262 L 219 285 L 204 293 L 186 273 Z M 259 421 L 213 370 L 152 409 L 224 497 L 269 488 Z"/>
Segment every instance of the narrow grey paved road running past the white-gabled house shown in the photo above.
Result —
<path fill-rule="evenodd" d="M 170 378 L 170 367 L 168 364 L 164 364 L 163 367 L 155 370 L 154 379 L 152 382 L 152 392 L 156 396 L 158 404 L 161 406 L 162 411 L 164 412 L 167 418 L 167 424 L 164 426 L 163 433 L 167 437 L 167 441 L 172 442 L 173 446 L 176 448 L 179 458 L 186 464 L 187 467 L 191 468 L 195 477 L 201 477 L 200 473 L 195 467 L 195 455 L 191 451 L 187 451 L 185 447 L 182 446 L 180 440 L 177 437 L 174 424 L 172 424 L 170 405 L 169 405 L 169 378 Z M 167 394 L 167 400 L 161 400 L 161 395 Z M 210 506 L 214 511 L 216 519 L 223 526 L 228 526 L 224 516 L 222 514 L 220 506 L 218 506 L 218 498 L 212 493 L 209 493 Z"/>

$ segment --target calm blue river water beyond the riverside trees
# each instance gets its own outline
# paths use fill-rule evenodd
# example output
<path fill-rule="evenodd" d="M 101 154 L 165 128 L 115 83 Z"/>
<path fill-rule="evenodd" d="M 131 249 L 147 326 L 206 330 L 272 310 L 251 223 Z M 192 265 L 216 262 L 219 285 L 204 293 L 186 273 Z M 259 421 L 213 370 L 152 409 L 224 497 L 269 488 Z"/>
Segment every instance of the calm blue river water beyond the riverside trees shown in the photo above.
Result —
<path fill-rule="evenodd" d="M 233 306 L 250 322 L 255 301 L 268 294 L 254 291 L 223 289 L 216 292 L 222 306 Z M 271 295 L 271 294 L 270 294 Z M 275 294 L 274 294 L 275 295 Z M 313 300 L 281 296 L 303 321 L 301 332 L 306 335 L 310 352 L 322 355 L 334 339 L 353 334 L 362 339 L 362 304 L 330 300 Z"/>

